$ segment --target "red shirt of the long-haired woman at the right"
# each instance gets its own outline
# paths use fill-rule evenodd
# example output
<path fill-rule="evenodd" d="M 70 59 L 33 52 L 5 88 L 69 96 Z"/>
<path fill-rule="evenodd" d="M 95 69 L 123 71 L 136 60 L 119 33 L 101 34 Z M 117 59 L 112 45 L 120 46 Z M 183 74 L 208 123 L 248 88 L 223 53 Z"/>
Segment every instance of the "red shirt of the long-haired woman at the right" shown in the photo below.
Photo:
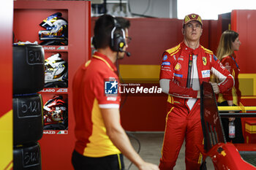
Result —
<path fill-rule="evenodd" d="M 234 60 L 236 58 L 236 55 L 234 55 Z M 236 65 L 236 61 L 234 61 L 232 59 L 231 56 L 227 56 L 225 58 L 222 58 L 222 64 L 223 66 L 225 66 L 225 68 L 228 70 L 228 72 L 230 72 L 230 74 L 233 75 L 234 79 L 235 79 L 235 86 L 234 88 L 236 88 L 236 95 L 238 97 L 238 104 L 241 101 L 241 91 L 239 90 L 239 81 L 238 81 L 238 74 L 240 72 L 240 69 L 238 67 L 238 65 Z M 233 100 L 233 94 L 232 94 L 232 89 L 227 90 L 226 92 L 222 93 L 223 98 L 225 98 L 225 100 Z"/>

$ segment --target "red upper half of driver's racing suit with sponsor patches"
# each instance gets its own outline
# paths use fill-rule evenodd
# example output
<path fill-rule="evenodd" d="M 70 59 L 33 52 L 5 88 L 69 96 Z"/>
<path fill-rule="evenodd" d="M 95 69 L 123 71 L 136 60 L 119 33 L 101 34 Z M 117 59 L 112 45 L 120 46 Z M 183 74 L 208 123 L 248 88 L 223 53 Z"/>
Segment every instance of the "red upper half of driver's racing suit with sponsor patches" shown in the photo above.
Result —
<path fill-rule="evenodd" d="M 213 72 L 214 68 L 214 70 L 217 71 L 217 74 L 223 74 L 226 77 L 225 82 L 222 82 L 222 84 L 219 85 L 220 93 L 233 87 L 233 77 L 227 72 L 227 69 L 222 66 L 222 63 L 219 62 L 210 50 L 205 49 L 203 46 L 192 50 L 187 47 L 184 42 L 181 42 L 180 45 L 173 49 L 166 50 L 162 55 L 163 60 L 160 79 L 172 80 L 170 81 L 169 94 L 177 97 L 196 98 L 197 92 L 192 90 L 192 88 L 186 88 L 189 55 L 197 55 L 197 72 L 200 84 L 203 81 L 209 82 L 210 80 L 210 74 L 203 75 L 203 72 L 208 70 Z M 203 63 L 203 60 L 205 59 L 206 64 Z M 166 65 L 169 63 L 170 65 Z M 177 64 L 180 65 L 178 68 L 176 68 Z"/>

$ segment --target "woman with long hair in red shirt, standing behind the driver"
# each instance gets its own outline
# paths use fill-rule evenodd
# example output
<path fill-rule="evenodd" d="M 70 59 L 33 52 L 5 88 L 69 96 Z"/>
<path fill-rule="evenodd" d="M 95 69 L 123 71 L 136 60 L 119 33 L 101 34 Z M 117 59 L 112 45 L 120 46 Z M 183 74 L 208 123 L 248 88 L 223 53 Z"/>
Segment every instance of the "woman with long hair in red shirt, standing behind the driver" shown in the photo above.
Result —
<path fill-rule="evenodd" d="M 241 91 L 239 90 L 238 74 L 240 72 L 238 63 L 236 63 L 236 55 L 234 51 L 238 51 L 241 42 L 239 34 L 236 31 L 227 30 L 222 33 L 217 49 L 217 58 L 222 62 L 223 66 L 233 75 L 235 85 L 232 89 L 225 93 L 220 93 L 218 98 L 219 106 L 239 106 L 241 105 Z M 229 122 L 235 122 L 236 134 L 234 138 L 229 137 Z M 222 118 L 222 125 L 225 132 L 227 142 L 244 143 L 244 136 L 241 128 L 241 118 Z"/>

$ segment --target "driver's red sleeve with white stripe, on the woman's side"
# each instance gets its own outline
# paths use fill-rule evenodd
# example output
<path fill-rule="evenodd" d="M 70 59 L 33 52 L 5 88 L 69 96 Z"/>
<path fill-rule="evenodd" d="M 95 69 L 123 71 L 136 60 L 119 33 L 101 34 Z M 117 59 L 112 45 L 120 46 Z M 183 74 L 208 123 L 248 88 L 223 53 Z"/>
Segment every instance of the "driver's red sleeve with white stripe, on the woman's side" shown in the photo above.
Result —
<path fill-rule="evenodd" d="M 233 88 L 233 85 L 235 84 L 233 76 L 227 69 L 225 69 L 215 55 L 211 55 L 211 64 L 211 72 L 220 80 L 218 84 L 219 93 L 224 93 Z"/>

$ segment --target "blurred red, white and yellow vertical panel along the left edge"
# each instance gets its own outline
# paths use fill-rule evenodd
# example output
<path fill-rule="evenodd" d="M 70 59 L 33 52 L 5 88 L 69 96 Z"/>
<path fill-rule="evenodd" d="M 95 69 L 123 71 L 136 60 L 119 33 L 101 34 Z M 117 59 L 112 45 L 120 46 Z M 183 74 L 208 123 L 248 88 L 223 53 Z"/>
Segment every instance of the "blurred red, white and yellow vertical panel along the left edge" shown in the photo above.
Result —
<path fill-rule="evenodd" d="M 0 6 L 0 169 L 12 169 L 12 3 Z"/>

